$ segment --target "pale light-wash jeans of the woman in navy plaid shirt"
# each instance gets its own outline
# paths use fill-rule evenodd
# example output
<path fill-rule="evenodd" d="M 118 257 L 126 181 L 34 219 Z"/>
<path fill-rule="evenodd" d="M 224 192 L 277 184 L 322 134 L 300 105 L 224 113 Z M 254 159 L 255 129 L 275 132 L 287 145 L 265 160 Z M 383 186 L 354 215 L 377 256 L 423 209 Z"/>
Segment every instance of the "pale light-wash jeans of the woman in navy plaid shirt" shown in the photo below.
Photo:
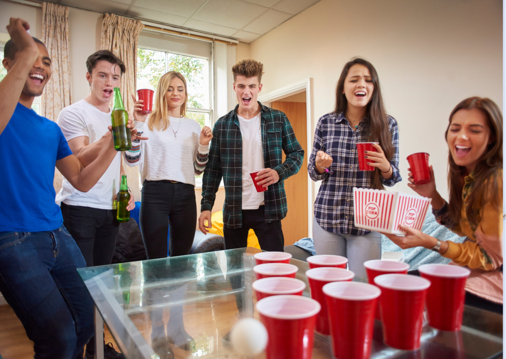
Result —
<path fill-rule="evenodd" d="M 314 218 L 313 242 L 316 254 L 334 254 L 348 258 L 348 269 L 362 278 L 367 278 L 364 262 L 381 259 L 381 234 L 378 232 L 364 235 L 327 232 Z"/>

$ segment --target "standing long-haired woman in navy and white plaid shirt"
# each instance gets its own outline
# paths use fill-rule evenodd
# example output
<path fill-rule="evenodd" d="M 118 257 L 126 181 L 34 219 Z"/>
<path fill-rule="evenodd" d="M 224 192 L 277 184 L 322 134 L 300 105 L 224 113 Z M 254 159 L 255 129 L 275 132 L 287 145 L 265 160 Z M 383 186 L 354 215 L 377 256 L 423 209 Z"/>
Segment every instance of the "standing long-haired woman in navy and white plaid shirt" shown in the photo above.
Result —
<path fill-rule="evenodd" d="M 377 142 L 377 152 L 365 152 L 374 171 L 359 170 L 359 142 Z M 376 70 L 354 58 L 339 77 L 334 111 L 318 120 L 308 162 L 309 176 L 322 181 L 314 205 L 316 254 L 347 257 L 350 270 L 366 277 L 363 263 L 381 258 L 381 235 L 355 227 L 353 187 L 393 186 L 401 181 L 398 165 L 397 122 L 385 112 Z"/>

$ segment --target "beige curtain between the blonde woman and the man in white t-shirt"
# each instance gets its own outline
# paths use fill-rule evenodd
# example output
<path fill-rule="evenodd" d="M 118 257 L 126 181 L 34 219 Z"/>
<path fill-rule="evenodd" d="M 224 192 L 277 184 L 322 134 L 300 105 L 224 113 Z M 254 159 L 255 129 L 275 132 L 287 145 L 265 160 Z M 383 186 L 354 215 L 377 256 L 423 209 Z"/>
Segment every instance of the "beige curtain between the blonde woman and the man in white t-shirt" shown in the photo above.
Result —
<path fill-rule="evenodd" d="M 103 50 L 111 50 L 125 64 L 126 72 L 121 76 L 120 92 L 125 109 L 132 113 L 137 82 L 137 43 L 144 25 L 139 20 L 127 19 L 114 14 L 104 14 L 102 23 Z M 136 201 L 141 200 L 139 190 L 139 166 L 129 167 L 123 164 L 129 187 Z"/>

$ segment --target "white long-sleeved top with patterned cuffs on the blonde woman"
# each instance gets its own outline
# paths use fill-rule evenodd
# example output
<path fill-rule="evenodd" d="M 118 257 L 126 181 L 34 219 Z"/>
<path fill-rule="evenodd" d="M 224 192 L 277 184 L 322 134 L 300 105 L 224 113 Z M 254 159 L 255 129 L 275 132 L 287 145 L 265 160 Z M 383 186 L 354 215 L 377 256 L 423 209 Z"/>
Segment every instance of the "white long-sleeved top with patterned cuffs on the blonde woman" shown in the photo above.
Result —
<path fill-rule="evenodd" d="M 139 165 L 142 182 L 172 180 L 195 185 L 193 163 L 197 150 L 206 154 L 209 145 L 200 145 L 200 124 L 194 119 L 169 117 L 169 121 L 171 125 L 165 131 L 150 131 L 147 123 L 135 122 L 136 128 L 149 139 L 141 141 L 140 162 L 129 166 Z"/>

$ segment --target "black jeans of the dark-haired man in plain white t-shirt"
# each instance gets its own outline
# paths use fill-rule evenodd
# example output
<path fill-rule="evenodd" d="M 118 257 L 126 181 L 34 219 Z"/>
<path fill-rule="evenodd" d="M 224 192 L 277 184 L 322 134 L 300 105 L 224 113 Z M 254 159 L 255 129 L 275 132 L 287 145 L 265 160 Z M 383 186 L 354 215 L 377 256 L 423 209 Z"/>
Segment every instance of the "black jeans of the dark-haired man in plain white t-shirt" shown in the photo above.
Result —
<path fill-rule="evenodd" d="M 119 231 L 116 210 L 72 206 L 62 202 L 61 211 L 63 225 L 85 257 L 86 266 L 111 264 Z M 86 351 L 95 353 L 95 336 L 86 345 Z"/>

